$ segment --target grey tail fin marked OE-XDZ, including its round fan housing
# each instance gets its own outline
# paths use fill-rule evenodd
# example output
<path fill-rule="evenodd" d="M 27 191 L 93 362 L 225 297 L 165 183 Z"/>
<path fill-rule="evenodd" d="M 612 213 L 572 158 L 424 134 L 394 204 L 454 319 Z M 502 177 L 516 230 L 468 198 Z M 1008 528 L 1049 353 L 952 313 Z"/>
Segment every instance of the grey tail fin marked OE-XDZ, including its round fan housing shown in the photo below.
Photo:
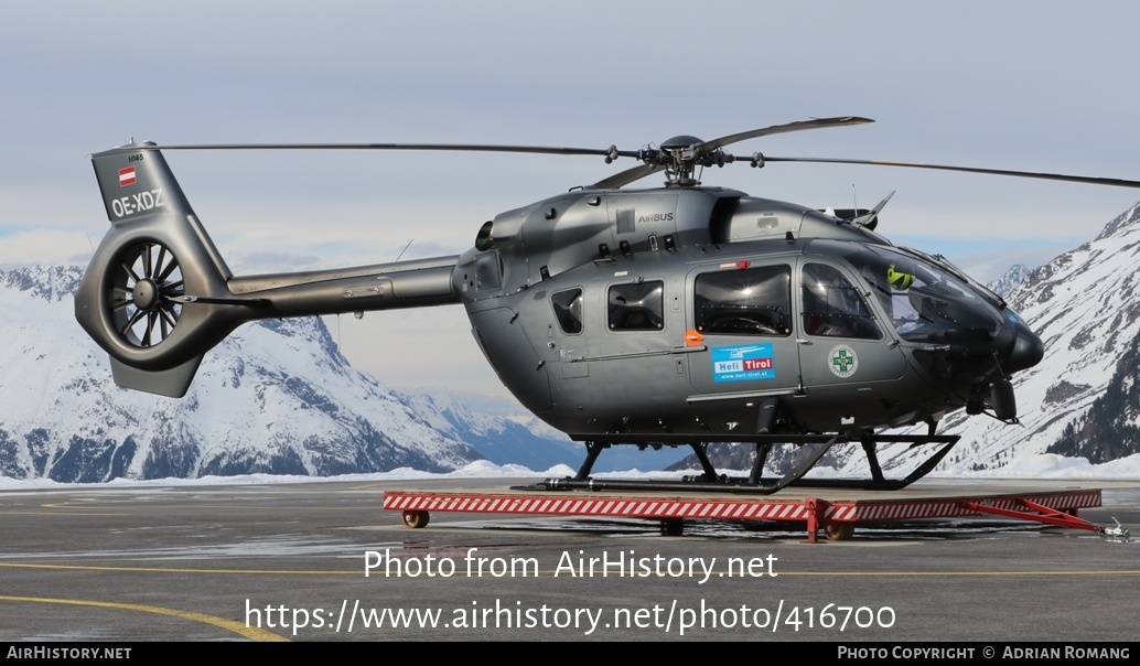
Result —
<path fill-rule="evenodd" d="M 119 384 L 181 397 L 203 354 L 242 319 L 185 307 L 188 294 L 229 295 L 231 274 L 153 145 L 91 157 L 112 228 L 80 283 L 75 318 L 111 355 Z"/>

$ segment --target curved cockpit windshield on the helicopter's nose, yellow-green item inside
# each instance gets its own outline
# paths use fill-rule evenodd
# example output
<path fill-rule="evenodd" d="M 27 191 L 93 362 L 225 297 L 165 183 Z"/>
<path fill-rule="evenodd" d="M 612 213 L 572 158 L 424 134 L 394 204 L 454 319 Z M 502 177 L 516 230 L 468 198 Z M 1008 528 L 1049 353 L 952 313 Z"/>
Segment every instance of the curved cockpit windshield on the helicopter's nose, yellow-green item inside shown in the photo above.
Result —
<path fill-rule="evenodd" d="M 925 255 L 860 245 L 845 258 L 871 287 L 903 340 L 971 344 L 990 342 L 1001 331 L 996 304 Z"/>

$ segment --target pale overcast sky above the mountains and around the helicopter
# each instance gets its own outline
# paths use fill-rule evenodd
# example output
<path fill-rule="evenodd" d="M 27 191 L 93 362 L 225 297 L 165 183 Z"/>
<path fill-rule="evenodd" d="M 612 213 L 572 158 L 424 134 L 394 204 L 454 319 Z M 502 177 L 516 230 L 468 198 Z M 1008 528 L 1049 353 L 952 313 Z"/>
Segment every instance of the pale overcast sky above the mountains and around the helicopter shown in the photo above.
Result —
<path fill-rule="evenodd" d="M 122 9 L 117 9 L 122 7 Z M 160 143 L 636 149 L 809 117 L 739 153 L 1140 179 L 1135 2 L 300 2 L 0 6 L 0 268 L 85 265 L 107 228 L 87 154 Z M 230 267 L 458 253 L 480 224 L 632 162 L 392 153 L 168 156 Z M 985 281 L 1091 239 L 1140 190 L 769 164 L 706 184 L 868 206 Z M 646 181 L 645 185 L 654 185 Z M 462 308 L 331 320 L 399 388 L 497 391 Z"/>

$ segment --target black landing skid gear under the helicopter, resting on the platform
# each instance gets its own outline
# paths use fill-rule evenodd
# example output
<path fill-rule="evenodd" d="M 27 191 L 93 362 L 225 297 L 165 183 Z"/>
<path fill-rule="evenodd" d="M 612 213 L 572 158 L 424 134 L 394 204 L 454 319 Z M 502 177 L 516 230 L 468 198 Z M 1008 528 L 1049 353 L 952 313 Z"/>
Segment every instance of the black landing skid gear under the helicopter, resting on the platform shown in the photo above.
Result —
<path fill-rule="evenodd" d="M 591 471 L 597 462 L 602 449 L 618 444 L 613 439 L 598 439 L 586 441 L 586 461 L 578 473 L 573 477 L 562 479 L 546 479 L 531 486 L 520 486 L 518 489 L 527 490 L 685 490 L 693 493 L 731 493 L 736 495 L 772 495 L 779 493 L 788 486 L 817 487 L 817 488 L 856 488 L 868 490 L 898 490 L 918 481 L 929 474 L 935 466 L 950 453 L 950 449 L 960 439 L 956 434 L 915 434 L 915 436 L 883 436 L 883 434 L 833 434 L 833 436 L 776 436 L 758 434 L 752 436 L 746 442 L 756 445 L 756 461 L 752 464 L 751 473 L 747 477 L 727 477 L 718 474 L 716 466 L 708 457 L 708 445 L 710 441 L 692 442 L 678 441 L 679 438 L 657 439 L 651 444 L 684 444 L 692 447 L 697 460 L 700 461 L 702 474 L 697 477 L 685 477 L 681 480 L 643 480 L 643 479 L 594 479 Z M 723 440 L 712 440 L 723 441 Z M 734 438 L 733 441 L 741 441 Z M 837 444 L 860 442 L 863 453 L 866 455 L 868 466 L 871 470 L 870 479 L 804 479 L 804 474 L 812 470 L 820 460 L 831 450 Z M 943 445 L 930 457 L 922 462 L 910 474 L 902 479 L 887 479 L 879 465 L 877 446 L 879 444 L 906 444 L 912 447 L 927 444 Z M 799 462 L 791 471 L 779 479 L 765 479 L 763 477 L 764 465 L 767 462 L 768 453 L 774 444 L 797 444 L 815 445 L 815 450 L 809 456 Z"/>

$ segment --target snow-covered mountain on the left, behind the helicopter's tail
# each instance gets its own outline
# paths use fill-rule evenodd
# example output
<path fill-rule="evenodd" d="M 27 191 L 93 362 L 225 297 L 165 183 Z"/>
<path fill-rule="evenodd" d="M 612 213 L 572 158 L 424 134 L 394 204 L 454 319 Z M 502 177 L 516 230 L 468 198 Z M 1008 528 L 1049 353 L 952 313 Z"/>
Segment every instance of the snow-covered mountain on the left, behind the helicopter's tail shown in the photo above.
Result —
<path fill-rule="evenodd" d="M 120 389 L 74 322 L 81 273 L 0 273 L 3 476 L 329 476 L 448 471 L 481 457 L 433 428 L 438 414 L 353 369 L 318 318 L 239 327 L 206 355 L 186 398 Z"/>

